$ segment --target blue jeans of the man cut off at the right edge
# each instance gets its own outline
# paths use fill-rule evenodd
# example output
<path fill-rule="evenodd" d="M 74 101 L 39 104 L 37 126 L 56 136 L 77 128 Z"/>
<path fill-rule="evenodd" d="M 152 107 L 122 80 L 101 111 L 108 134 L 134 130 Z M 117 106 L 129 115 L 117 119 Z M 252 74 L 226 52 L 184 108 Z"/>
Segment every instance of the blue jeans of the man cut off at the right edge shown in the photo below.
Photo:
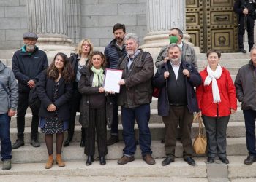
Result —
<path fill-rule="evenodd" d="M 255 119 L 256 111 L 253 110 L 244 110 L 244 121 L 246 128 L 246 146 L 249 151 L 249 155 L 256 157 L 255 150 Z"/>

